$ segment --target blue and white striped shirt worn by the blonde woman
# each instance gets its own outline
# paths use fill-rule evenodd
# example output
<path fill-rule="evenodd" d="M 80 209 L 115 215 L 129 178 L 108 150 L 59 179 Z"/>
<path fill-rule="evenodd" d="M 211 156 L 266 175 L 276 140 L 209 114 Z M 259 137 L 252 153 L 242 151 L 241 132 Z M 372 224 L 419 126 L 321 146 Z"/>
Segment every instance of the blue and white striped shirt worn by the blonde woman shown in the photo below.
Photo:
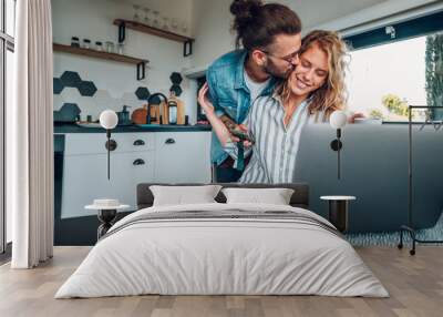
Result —
<path fill-rule="evenodd" d="M 254 137 L 253 157 L 239 183 L 292 183 L 302 127 L 324 120 L 323 113 L 310 115 L 303 101 L 285 125 L 285 108 L 277 95 L 258 98 L 250 108 L 245 125 Z M 236 153 L 230 152 L 236 156 Z"/>

